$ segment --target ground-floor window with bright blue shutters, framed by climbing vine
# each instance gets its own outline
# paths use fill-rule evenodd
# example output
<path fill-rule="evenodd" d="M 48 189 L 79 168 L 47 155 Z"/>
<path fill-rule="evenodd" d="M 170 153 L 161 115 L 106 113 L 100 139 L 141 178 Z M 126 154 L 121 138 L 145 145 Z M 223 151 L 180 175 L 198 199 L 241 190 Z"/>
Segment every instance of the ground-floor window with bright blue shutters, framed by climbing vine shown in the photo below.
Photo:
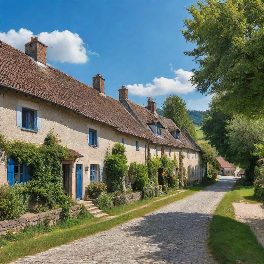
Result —
<path fill-rule="evenodd" d="M 15 183 L 24 183 L 30 180 L 30 168 L 25 163 L 18 163 L 14 159 L 8 159 L 7 180 L 10 186 Z"/>

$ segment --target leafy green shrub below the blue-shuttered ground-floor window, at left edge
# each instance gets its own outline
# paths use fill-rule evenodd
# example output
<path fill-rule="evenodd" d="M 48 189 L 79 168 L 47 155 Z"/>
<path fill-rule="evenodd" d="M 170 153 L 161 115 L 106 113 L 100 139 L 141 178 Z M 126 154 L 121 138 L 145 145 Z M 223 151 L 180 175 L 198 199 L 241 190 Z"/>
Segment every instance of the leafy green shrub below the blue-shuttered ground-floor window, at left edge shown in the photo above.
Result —
<path fill-rule="evenodd" d="M 0 220 L 19 218 L 28 210 L 27 184 L 0 186 Z"/>

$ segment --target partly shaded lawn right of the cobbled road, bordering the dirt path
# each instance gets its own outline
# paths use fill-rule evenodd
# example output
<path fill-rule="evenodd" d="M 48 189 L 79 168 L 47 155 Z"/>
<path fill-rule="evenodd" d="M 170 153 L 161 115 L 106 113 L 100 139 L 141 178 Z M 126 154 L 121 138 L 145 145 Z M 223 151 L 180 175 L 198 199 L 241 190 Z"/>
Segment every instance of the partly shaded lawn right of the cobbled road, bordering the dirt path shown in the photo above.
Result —
<path fill-rule="evenodd" d="M 245 187 L 239 180 L 216 208 L 210 225 L 209 247 L 219 263 L 236 264 L 238 260 L 244 264 L 264 263 L 264 249 L 254 233 L 249 226 L 234 220 L 232 202 L 256 203 L 253 194 L 254 187 Z"/>

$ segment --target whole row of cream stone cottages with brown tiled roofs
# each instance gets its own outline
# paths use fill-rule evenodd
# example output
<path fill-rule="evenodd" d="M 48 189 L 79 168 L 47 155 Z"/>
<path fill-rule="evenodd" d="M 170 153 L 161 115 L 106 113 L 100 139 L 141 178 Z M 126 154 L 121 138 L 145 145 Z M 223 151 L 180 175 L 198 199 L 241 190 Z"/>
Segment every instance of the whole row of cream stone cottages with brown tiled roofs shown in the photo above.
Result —
<path fill-rule="evenodd" d="M 107 149 L 120 142 L 128 164 L 148 157 L 174 154 L 181 159 L 189 182 L 201 182 L 201 151 L 172 120 L 157 114 L 155 102 L 142 107 L 119 89 L 119 100 L 105 94 L 105 79 L 92 78 L 92 87 L 46 64 L 46 46 L 37 37 L 25 44 L 25 53 L 0 41 L 0 133 L 7 139 L 41 145 L 52 129 L 69 158 L 62 162 L 64 190 L 82 199 L 91 181 L 101 181 Z M 30 179 L 25 165 L 7 160 L 0 151 L 0 184 Z M 162 181 L 159 170 L 159 181 Z M 176 173 L 176 169 L 175 169 Z"/>

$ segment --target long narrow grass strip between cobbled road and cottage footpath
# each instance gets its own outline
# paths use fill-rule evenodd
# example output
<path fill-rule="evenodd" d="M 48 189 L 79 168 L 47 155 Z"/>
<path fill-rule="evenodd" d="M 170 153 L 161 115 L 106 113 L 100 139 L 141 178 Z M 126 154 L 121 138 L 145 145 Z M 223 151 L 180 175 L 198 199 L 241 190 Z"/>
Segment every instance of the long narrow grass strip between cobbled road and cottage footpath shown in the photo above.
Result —
<path fill-rule="evenodd" d="M 124 214 L 103 222 L 96 223 L 89 220 L 88 223 L 84 223 L 81 226 L 70 227 L 68 229 L 57 229 L 45 236 L 34 237 L 34 239 L 32 237 L 28 239 L 25 238 L 23 240 L 17 241 L 16 243 L 10 243 L 0 249 L 0 263 L 7 263 L 19 257 L 36 254 L 51 247 L 56 247 L 76 239 L 86 237 L 87 235 L 108 230 L 115 227 L 116 225 L 122 224 L 133 218 L 144 216 L 145 214 L 151 213 L 159 208 L 162 208 L 163 206 L 171 204 L 172 202 L 176 202 L 188 197 L 215 182 L 216 181 L 210 180 L 203 185 L 190 187 L 190 190 L 154 203 L 151 203 L 153 200 L 149 200 L 150 204 L 144 208 L 134 210 L 128 214 Z"/>

